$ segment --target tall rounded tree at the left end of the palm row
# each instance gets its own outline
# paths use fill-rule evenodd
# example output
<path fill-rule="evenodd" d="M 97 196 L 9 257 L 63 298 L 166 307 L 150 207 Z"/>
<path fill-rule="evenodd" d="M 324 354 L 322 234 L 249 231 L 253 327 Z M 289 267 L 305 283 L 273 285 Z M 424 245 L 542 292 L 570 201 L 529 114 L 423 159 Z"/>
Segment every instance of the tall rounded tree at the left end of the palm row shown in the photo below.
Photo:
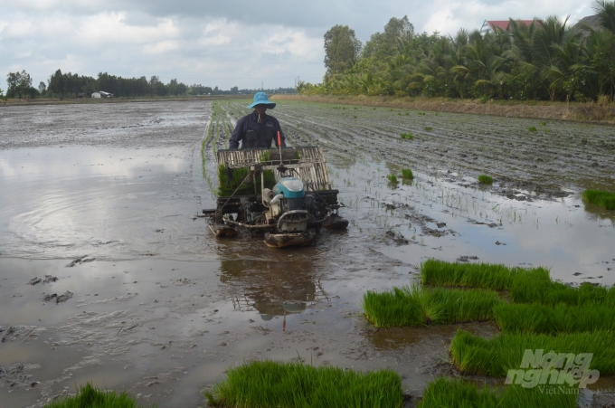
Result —
<path fill-rule="evenodd" d="M 355 65 L 361 52 L 361 42 L 355 37 L 355 30 L 347 25 L 335 25 L 325 33 L 326 73 L 341 73 Z"/>

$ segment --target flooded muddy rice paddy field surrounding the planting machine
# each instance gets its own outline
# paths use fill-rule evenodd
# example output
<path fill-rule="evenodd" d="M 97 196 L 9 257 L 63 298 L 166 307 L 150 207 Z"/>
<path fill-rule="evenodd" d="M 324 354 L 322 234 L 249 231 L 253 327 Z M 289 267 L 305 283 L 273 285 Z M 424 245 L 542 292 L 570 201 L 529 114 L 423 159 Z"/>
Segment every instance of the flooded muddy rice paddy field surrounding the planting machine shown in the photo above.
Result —
<path fill-rule="evenodd" d="M 195 217 L 214 206 L 213 152 L 245 105 L 0 109 L 0 406 L 87 381 L 203 406 L 204 387 L 255 358 L 393 368 L 419 396 L 458 375 L 446 348 L 459 327 L 497 327 L 376 330 L 366 290 L 409 284 L 429 258 L 615 283 L 615 213 L 580 199 L 615 188 L 612 127 L 284 101 L 271 113 L 289 145 L 324 147 L 350 226 L 272 250 L 216 241 Z M 402 167 L 414 179 L 391 185 Z"/>

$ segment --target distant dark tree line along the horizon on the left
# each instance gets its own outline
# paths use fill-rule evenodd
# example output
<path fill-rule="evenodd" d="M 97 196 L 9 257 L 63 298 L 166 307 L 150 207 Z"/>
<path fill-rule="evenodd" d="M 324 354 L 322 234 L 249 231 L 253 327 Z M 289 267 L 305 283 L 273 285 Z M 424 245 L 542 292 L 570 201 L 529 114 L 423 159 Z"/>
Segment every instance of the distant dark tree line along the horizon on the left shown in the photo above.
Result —
<path fill-rule="evenodd" d="M 5 98 L 59 98 L 70 99 L 78 96 L 87 96 L 93 92 L 104 90 L 112 93 L 115 97 L 146 97 L 146 96 L 185 96 L 185 95 L 223 95 L 223 94 L 251 94 L 258 90 L 240 90 L 232 87 L 231 90 L 220 90 L 218 87 L 208 87 L 201 84 L 185 85 L 176 79 L 163 83 L 159 77 L 152 76 L 149 80 L 146 77 L 122 78 L 116 75 L 109 75 L 107 72 L 100 72 L 98 78 L 77 73 L 62 73 L 61 70 L 55 71 L 47 81 L 41 81 L 38 88 L 33 87 L 33 80 L 26 71 L 9 72 L 6 75 Z M 278 88 L 269 90 L 271 92 L 297 92 L 292 88 Z M 0 97 L 3 91 L 0 90 Z"/>

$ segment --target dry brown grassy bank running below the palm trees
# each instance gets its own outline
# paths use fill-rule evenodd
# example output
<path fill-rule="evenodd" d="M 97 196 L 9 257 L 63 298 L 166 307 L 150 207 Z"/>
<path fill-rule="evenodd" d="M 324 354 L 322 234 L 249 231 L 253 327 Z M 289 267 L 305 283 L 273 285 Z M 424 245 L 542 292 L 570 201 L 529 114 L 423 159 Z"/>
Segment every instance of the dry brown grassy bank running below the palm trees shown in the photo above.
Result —
<path fill-rule="evenodd" d="M 431 110 L 449 113 L 471 113 L 475 115 L 499 116 L 506 118 L 532 118 L 570 120 L 575 122 L 615 124 L 615 106 L 600 106 L 596 103 L 564 102 L 499 102 L 490 100 L 479 103 L 476 100 L 445 100 L 427 98 L 394 98 L 360 96 L 318 96 L 318 95 L 276 95 L 275 100 L 302 100 L 309 102 L 341 103 L 347 105 L 376 106 Z"/>

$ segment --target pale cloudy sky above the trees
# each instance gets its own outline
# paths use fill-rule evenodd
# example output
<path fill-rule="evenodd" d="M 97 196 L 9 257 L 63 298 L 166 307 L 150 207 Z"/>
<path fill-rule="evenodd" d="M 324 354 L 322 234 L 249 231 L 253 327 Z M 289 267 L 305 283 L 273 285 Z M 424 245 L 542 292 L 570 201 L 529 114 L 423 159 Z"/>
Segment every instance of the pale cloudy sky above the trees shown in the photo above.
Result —
<path fill-rule="evenodd" d="M 317 82 L 323 34 L 347 24 L 365 42 L 395 16 L 415 32 L 456 33 L 484 20 L 555 14 L 572 24 L 592 0 L 0 0 L 0 89 L 8 72 L 40 81 L 61 69 L 96 76 L 157 75 L 229 89 Z"/>

